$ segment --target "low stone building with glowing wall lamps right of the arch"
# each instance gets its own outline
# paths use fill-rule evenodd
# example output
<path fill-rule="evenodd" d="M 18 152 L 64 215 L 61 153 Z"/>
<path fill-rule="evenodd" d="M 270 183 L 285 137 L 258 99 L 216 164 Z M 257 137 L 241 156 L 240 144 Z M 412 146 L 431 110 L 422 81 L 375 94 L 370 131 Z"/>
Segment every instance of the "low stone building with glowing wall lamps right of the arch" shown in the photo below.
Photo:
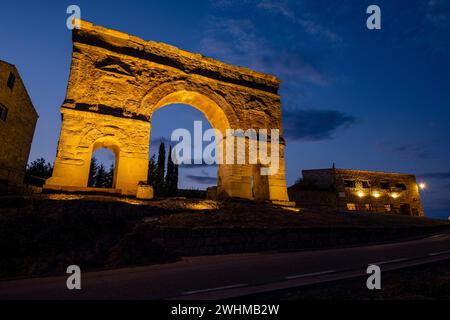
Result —
<path fill-rule="evenodd" d="M 335 168 L 302 173 L 303 180 L 288 189 L 302 208 L 424 215 L 414 175 Z"/>

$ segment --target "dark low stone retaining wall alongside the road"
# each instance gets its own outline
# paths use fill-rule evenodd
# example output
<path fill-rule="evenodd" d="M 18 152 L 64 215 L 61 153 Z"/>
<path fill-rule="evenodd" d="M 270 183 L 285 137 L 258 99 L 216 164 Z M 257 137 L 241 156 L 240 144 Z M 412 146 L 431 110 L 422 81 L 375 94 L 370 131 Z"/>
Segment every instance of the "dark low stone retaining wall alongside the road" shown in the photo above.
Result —
<path fill-rule="evenodd" d="M 181 256 L 293 250 L 379 243 L 421 237 L 443 227 L 339 229 L 154 228 L 153 242 Z M 148 232 L 148 231 L 147 231 Z"/>

